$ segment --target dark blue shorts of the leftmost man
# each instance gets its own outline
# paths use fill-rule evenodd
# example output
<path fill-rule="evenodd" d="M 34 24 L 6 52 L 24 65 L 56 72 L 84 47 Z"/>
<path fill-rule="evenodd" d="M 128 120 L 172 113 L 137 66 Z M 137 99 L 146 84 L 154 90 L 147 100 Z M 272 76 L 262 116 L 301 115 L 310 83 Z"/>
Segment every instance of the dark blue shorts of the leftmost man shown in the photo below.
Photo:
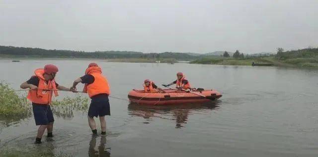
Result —
<path fill-rule="evenodd" d="M 48 125 L 54 122 L 50 105 L 37 105 L 32 103 L 32 108 L 36 125 Z"/>

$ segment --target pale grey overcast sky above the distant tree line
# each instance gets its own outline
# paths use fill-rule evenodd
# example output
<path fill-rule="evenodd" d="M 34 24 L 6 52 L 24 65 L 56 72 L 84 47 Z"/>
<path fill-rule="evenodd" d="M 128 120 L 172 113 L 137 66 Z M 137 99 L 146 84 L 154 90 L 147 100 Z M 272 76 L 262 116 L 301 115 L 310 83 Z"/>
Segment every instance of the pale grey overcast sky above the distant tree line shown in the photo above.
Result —
<path fill-rule="evenodd" d="M 318 0 L 0 0 L 0 45 L 244 53 L 318 47 Z"/>

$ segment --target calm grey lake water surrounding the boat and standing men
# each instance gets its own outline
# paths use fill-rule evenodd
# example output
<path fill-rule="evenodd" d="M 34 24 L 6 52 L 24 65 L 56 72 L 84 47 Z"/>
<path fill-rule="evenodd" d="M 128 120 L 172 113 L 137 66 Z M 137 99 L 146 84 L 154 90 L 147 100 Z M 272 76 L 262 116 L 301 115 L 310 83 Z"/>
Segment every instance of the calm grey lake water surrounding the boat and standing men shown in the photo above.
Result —
<path fill-rule="evenodd" d="M 0 60 L 0 80 L 12 88 L 36 68 L 56 64 L 57 82 L 71 86 L 88 60 Z M 318 71 L 283 67 L 198 65 L 187 63 L 115 63 L 95 61 L 110 83 L 112 96 L 127 99 L 145 79 L 158 85 L 182 71 L 193 87 L 223 94 L 216 102 L 140 106 L 110 99 L 107 136 L 94 137 L 87 112 L 55 117 L 54 141 L 34 145 L 37 127 L 28 118 L 2 126 L 2 150 L 51 151 L 76 157 L 317 157 Z M 83 86 L 80 85 L 79 89 Z M 21 92 L 23 93 L 23 92 Z M 60 92 L 61 99 L 75 96 Z M 26 94 L 26 92 L 24 92 Z M 87 97 L 81 94 L 83 97 Z M 98 132 L 100 127 L 98 125 Z"/>

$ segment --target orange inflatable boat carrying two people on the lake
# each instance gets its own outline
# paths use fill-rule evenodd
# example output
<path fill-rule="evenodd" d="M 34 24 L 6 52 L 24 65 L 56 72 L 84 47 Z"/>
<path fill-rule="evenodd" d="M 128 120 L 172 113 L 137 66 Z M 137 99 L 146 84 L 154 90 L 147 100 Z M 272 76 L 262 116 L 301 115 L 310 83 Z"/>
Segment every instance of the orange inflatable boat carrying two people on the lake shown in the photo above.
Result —
<path fill-rule="evenodd" d="M 222 97 L 215 90 L 179 91 L 174 89 L 164 89 L 165 93 L 146 93 L 144 90 L 132 90 L 128 94 L 128 99 L 132 103 L 142 105 L 173 105 L 183 103 L 204 103 L 214 101 Z"/>

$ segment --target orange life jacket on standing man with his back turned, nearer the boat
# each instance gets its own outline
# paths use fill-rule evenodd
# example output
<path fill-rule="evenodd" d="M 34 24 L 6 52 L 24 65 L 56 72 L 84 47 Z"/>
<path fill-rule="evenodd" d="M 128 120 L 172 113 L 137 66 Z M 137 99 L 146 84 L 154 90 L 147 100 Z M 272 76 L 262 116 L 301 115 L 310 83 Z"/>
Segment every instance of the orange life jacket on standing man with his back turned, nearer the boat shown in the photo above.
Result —
<path fill-rule="evenodd" d="M 85 74 L 90 74 L 94 77 L 94 82 L 84 85 L 83 92 L 87 93 L 89 98 L 97 94 L 110 95 L 110 89 L 106 77 L 101 75 L 101 68 L 98 66 L 91 66 L 86 69 Z"/>

